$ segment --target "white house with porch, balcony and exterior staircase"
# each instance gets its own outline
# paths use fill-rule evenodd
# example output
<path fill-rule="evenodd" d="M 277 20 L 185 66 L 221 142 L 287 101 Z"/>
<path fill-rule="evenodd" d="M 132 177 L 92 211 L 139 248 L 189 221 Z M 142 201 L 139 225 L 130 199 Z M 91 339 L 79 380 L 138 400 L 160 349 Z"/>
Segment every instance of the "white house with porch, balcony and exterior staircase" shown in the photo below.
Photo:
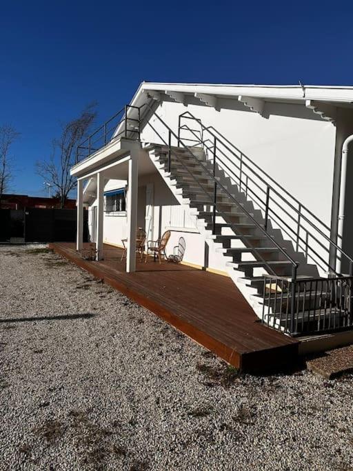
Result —
<path fill-rule="evenodd" d="M 352 133 L 353 87 L 143 82 L 79 146 L 77 250 L 84 203 L 97 259 L 128 239 L 133 272 L 137 228 L 170 230 L 167 255 L 182 237 L 268 325 L 347 328 Z"/>

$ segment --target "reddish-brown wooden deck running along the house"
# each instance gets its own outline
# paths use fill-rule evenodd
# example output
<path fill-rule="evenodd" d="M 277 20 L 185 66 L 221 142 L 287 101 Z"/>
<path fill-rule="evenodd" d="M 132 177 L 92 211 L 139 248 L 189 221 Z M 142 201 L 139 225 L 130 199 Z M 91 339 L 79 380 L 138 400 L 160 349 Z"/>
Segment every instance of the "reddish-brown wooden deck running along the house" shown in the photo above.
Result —
<path fill-rule="evenodd" d="M 74 243 L 50 243 L 55 252 L 103 279 L 205 348 L 243 371 L 292 363 L 299 342 L 259 322 L 232 280 L 187 265 L 153 259 L 126 273 L 121 249 L 104 245 L 103 261 L 85 261 Z"/>

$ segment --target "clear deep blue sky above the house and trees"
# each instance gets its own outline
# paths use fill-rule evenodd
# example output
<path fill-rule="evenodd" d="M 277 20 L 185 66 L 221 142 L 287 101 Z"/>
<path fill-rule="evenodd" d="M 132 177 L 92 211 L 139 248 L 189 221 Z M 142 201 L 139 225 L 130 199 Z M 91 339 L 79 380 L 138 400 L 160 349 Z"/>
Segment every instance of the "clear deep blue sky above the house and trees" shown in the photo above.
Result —
<path fill-rule="evenodd" d="M 7 1 L 0 124 L 21 132 L 13 192 L 46 194 L 34 163 L 60 122 L 105 121 L 145 81 L 353 85 L 348 1 Z"/>

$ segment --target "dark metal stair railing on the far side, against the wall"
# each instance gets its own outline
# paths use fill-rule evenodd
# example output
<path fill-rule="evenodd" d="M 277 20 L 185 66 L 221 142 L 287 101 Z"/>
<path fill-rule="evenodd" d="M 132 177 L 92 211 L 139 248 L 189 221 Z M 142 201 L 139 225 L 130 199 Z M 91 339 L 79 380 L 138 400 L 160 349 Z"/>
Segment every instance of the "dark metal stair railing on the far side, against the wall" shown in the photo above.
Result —
<path fill-rule="evenodd" d="M 182 124 L 183 119 L 191 120 L 192 127 Z M 213 164 L 216 162 L 239 191 L 250 197 L 254 208 L 262 211 L 266 231 L 271 221 L 273 228 L 278 227 L 289 237 L 296 252 L 303 251 L 307 263 L 314 262 L 327 274 L 341 275 L 330 264 L 330 248 L 335 248 L 341 260 L 346 262 L 349 274 L 353 274 L 353 260 L 330 239 L 330 228 L 219 131 L 204 126 L 200 119 L 185 112 L 179 117 L 178 137 L 185 132 L 188 134 L 183 140 L 202 147 Z"/>

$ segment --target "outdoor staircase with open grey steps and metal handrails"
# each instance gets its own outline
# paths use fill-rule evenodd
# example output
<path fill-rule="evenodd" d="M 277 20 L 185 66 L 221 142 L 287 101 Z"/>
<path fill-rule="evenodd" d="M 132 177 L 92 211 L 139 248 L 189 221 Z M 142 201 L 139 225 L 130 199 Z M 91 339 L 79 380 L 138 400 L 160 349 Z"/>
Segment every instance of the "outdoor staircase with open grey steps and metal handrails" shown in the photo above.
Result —
<path fill-rule="evenodd" d="M 330 228 L 190 112 L 177 132 L 147 104 L 134 112 L 125 107 L 110 139 L 152 128 L 159 142 L 144 144 L 150 159 L 263 323 L 290 335 L 352 328 L 353 260 Z M 347 274 L 336 272 L 332 253 Z"/>

